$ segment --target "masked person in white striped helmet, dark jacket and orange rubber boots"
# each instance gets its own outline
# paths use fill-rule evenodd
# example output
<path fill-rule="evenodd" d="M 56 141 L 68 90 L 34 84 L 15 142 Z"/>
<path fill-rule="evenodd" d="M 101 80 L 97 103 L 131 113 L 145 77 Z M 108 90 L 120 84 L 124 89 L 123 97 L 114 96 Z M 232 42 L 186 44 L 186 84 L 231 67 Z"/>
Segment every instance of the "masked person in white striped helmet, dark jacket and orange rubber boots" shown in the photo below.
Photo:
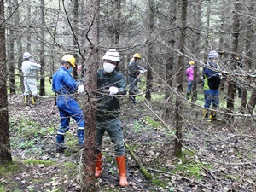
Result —
<path fill-rule="evenodd" d="M 120 104 L 118 95 L 126 94 L 126 80 L 122 73 L 115 69 L 120 56 L 116 49 L 109 49 L 102 57 L 103 68 L 97 72 L 97 115 L 96 115 L 96 172 L 102 174 L 102 139 L 107 131 L 113 143 L 116 161 L 119 168 L 119 186 L 128 185 L 125 168 L 124 134 L 119 120 Z"/>

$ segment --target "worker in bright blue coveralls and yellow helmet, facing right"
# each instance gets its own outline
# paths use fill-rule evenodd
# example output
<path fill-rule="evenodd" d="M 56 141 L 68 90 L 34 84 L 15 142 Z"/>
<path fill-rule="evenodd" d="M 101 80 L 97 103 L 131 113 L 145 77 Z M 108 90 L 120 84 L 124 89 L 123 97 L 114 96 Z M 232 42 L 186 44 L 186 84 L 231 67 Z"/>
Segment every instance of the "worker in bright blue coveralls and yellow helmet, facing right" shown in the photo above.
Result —
<path fill-rule="evenodd" d="M 69 122 L 72 117 L 78 125 L 78 143 L 84 144 L 84 115 L 79 103 L 73 98 L 73 93 L 84 92 L 84 85 L 71 76 L 72 68 L 75 67 L 75 58 L 67 54 L 61 58 L 61 67 L 54 73 L 52 90 L 56 93 L 56 104 L 61 117 L 61 125 L 56 135 L 56 152 L 63 152 L 65 133 L 69 130 Z"/>

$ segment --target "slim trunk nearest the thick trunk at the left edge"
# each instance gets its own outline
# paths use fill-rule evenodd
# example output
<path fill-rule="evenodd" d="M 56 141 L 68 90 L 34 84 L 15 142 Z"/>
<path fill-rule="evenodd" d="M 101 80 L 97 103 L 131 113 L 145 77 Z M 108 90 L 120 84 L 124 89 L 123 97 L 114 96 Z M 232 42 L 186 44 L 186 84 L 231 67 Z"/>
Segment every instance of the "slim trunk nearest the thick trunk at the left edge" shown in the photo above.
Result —
<path fill-rule="evenodd" d="M 12 15 L 13 3 L 9 0 L 9 15 Z M 10 18 L 10 20 L 13 20 Z M 9 91 L 10 94 L 15 94 L 15 32 L 10 27 L 9 29 Z"/>

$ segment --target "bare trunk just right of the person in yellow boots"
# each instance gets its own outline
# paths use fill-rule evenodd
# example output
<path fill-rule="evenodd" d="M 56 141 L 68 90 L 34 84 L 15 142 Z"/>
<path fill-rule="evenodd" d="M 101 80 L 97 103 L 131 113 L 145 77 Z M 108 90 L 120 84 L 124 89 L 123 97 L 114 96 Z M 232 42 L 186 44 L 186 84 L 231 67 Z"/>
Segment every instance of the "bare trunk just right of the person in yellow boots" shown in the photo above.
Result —
<path fill-rule="evenodd" d="M 234 12 L 234 23 L 233 23 L 233 48 L 231 54 L 231 69 L 236 68 L 236 56 L 238 53 L 238 37 L 239 37 L 239 12 L 241 9 L 241 4 L 239 1 L 235 3 L 235 12 Z M 229 113 L 234 113 L 234 99 L 235 99 L 235 81 L 234 79 L 230 79 L 229 86 L 228 86 L 228 97 L 227 97 L 227 108 Z M 230 119 L 232 117 L 228 117 Z"/>

